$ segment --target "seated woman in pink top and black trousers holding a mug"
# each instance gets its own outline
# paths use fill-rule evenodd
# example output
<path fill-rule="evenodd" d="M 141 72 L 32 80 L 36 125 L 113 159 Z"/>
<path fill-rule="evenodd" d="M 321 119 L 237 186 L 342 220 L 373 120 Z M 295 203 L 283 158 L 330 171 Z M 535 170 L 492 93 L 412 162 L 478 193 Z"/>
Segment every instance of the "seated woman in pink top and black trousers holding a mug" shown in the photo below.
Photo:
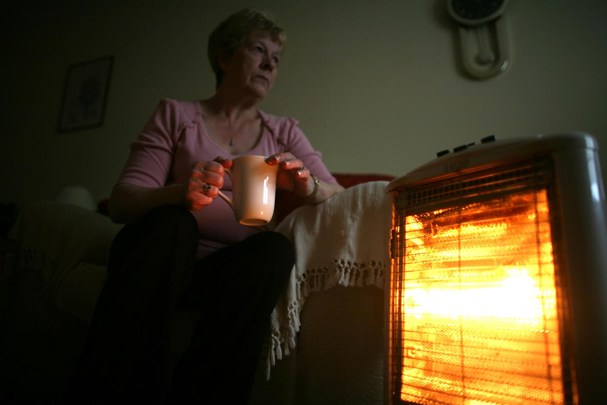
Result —
<path fill-rule="evenodd" d="M 209 36 L 215 94 L 162 100 L 131 145 L 110 198 L 112 220 L 127 225 L 112 244 L 67 403 L 247 402 L 294 255 L 281 234 L 240 225 L 217 199 L 231 192 L 224 170 L 233 158 L 263 155 L 279 166 L 277 187 L 308 203 L 343 189 L 296 120 L 256 108 L 276 80 L 285 37 L 267 13 L 229 16 Z M 175 308 L 202 318 L 168 386 Z"/>

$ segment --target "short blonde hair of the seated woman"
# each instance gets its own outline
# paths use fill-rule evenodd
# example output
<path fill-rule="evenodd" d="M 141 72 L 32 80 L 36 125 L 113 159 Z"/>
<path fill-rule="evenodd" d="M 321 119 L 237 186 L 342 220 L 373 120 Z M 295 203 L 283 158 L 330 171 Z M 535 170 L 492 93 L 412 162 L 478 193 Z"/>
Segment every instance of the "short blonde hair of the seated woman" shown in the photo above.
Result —
<path fill-rule="evenodd" d="M 268 12 L 256 9 L 245 9 L 234 13 L 219 23 L 209 35 L 207 55 L 211 69 L 215 73 L 215 89 L 222 83 L 223 70 L 219 66 L 219 58 L 229 60 L 237 47 L 245 41 L 246 35 L 252 30 L 259 29 L 270 33 L 270 36 L 280 46 L 280 52 L 287 43 L 287 33 L 280 27 L 274 16 Z"/>

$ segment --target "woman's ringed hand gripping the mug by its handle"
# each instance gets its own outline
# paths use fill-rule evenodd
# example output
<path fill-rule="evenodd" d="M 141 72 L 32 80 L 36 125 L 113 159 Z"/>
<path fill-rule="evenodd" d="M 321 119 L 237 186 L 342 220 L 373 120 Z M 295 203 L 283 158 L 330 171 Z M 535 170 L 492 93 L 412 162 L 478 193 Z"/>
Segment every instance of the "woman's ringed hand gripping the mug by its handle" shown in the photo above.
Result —
<path fill-rule="evenodd" d="M 221 156 L 212 162 L 194 162 L 185 185 L 183 203 L 186 208 L 198 211 L 212 203 L 223 187 L 224 169 L 231 166 L 232 161 Z"/>

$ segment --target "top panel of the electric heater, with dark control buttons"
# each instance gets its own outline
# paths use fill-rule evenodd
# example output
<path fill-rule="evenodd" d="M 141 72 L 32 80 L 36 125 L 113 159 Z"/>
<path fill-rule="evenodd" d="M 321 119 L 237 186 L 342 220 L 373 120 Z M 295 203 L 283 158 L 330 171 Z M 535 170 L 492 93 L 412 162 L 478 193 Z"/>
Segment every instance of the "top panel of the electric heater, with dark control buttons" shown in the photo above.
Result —
<path fill-rule="evenodd" d="M 479 145 L 475 143 L 463 145 L 453 149 L 453 152 L 444 151 L 443 155 L 392 180 L 388 184 L 388 192 L 423 180 L 466 171 L 469 168 L 478 168 L 478 166 L 492 165 L 495 162 L 518 160 L 534 155 L 548 155 L 564 149 L 599 150 L 599 144 L 595 138 L 583 132 L 537 135 L 507 140 L 493 139 L 483 140 Z"/>

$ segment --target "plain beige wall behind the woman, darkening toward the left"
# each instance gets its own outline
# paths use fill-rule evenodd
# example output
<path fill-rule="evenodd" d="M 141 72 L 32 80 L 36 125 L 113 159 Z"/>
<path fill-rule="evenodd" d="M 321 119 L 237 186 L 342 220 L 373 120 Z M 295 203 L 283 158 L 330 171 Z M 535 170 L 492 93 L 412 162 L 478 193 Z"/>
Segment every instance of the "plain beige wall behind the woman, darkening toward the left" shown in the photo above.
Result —
<path fill-rule="evenodd" d="M 251 4 L 49 3 L 7 13 L 1 202 L 53 198 L 66 185 L 109 196 L 160 98 L 211 95 L 206 36 Z M 607 173 L 607 2 L 510 1 L 511 65 L 488 81 L 458 67 L 443 0 L 254 5 L 272 10 L 289 36 L 261 107 L 299 119 L 331 171 L 402 175 L 485 135 L 580 130 L 599 139 Z M 104 55 L 115 62 L 103 127 L 58 134 L 67 67 Z"/>

